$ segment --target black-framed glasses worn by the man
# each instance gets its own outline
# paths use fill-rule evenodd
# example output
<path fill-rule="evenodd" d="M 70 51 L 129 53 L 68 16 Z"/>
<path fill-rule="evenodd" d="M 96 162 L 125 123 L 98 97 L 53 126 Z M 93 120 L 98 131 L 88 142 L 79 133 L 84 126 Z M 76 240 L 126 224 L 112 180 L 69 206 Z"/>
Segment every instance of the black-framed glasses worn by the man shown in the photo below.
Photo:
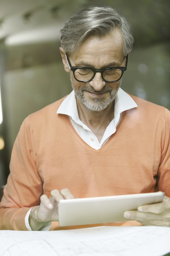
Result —
<path fill-rule="evenodd" d="M 128 55 L 126 55 L 125 67 L 107 67 L 101 69 L 95 69 L 90 67 L 73 67 L 71 66 L 69 57 L 66 55 L 66 61 L 69 69 L 73 71 L 74 78 L 78 82 L 87 83 L 94 79 L 97 72 L 101 73 L 101 77 L 105 82 L 115 83 L 120 80 L 123 76 L 124 71 L 128 65 Z"/>

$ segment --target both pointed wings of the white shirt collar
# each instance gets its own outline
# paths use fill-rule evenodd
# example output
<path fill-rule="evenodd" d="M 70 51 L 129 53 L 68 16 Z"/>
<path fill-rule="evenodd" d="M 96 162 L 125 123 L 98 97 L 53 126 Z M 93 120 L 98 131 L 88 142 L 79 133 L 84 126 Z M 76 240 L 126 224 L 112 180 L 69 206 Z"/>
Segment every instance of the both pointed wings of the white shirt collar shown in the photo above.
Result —
<path fill-rule="evenodd" d="M 114 118 L 120 117 L 120 114 L 128 109 L 138 107 L 137 103 L 130 97 L 130 95 L 124 92 L 121 88 L 118 90 L 115 98 Z M 64 114 L 70 116 L 74 122 L 82 124 L 78 114 L 77 102 L 75 99 L 74 91 L 72 91 L 61 103 L 57 110 L 57 114 Z"/>

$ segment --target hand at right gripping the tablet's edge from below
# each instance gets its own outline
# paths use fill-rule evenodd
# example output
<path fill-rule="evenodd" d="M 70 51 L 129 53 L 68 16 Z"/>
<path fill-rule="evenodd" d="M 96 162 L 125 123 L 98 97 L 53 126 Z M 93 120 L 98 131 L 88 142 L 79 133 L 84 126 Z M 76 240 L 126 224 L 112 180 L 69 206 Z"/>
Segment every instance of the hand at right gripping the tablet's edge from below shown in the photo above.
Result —
<path fill-rule="evenodd" d="M 143 226 L 170 227 L 170 198 L 164 196 L 161 203 L 139 206 L 138 211 L 126 211 L 124 217 L 137 220 Z"/>

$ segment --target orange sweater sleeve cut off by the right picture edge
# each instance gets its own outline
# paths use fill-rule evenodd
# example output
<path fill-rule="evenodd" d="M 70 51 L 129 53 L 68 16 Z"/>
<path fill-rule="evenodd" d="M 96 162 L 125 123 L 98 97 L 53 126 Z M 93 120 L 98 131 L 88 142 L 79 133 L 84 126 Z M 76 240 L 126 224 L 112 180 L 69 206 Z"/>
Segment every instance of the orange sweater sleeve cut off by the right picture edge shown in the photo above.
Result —
<path fill-rule="evenodd" d="M 170 197 L 170 111 L 165 109 L 162 119 L 162 157 L 158 170 L 158 189 Z"/>

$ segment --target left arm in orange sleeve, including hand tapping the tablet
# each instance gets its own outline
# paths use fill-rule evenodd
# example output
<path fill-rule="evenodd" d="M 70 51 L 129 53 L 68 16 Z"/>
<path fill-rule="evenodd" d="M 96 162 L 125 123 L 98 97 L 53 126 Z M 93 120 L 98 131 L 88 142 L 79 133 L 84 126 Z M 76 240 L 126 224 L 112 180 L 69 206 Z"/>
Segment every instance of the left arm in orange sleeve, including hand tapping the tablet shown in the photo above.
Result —
<path fill-rule="evenodd" d="M 53 190 L 49 198 L 43 195 L 34 138 L 33 128 L 26 118 L 12 150 L 10 175 L 0 206 L 0 229 L 28 230 L 25 216 L 31 210 L 29 225 L 32 230 L 41 230 L 50 221 L 58 220 L 57 202 L 60 199 L 74 198 L 67 189 Z"/>

